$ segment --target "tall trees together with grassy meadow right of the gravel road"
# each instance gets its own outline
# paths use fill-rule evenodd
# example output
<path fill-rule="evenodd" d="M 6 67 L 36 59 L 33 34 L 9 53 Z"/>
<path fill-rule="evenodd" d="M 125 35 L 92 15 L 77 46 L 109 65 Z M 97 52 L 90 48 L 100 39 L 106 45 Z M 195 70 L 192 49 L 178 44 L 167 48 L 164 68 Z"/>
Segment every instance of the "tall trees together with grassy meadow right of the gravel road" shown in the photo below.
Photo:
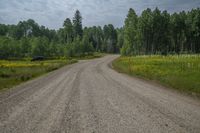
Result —
<path fill-rule="evenodd" d="M 113 66 L 200 95 L 199 29 L 200 8 L 173 14 L 147 8 L 140 16 L 130 9 L 118 34 L 122 57 Z"/>

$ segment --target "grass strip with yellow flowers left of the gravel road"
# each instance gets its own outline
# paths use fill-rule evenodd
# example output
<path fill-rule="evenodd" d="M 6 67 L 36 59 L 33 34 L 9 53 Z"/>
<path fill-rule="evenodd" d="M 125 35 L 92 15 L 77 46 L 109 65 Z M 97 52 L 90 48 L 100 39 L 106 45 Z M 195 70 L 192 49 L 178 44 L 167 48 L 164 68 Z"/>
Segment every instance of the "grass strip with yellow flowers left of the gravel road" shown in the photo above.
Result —
<path fill-rule="evenodd" d="M 6 61 L 0 60 L 0 90 L 11 88 L 27 80 L 56 70 L 77 60 Z"/>

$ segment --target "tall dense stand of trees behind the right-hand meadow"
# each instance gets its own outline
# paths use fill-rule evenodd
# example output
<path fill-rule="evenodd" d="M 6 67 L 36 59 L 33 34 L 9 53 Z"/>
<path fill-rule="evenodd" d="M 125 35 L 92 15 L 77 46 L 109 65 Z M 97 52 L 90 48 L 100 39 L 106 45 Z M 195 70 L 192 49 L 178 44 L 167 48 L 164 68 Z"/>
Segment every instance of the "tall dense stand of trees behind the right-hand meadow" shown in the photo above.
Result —
<path fill-rule="evenodd" d="M 131 8 L 122 29 L 123 55 L 200 52 L 200 8 L 169 14 L 147 8 L 138 16 Z"/>

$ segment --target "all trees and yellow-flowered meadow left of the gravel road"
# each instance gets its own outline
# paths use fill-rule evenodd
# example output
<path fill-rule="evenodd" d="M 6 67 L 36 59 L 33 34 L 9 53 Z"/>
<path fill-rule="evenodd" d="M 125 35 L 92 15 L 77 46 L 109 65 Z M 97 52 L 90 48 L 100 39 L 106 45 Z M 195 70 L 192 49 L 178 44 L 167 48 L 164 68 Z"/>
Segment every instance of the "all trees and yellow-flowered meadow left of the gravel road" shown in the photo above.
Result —
<path fill-rule="evenodd" d="M 0 90 L 78 60 L 119 51 L 116 42 L 117 31 L 112 24 L 103 29 L 83 28 L 78 10 L 58 30 L 40 26 L 32 19 L 17 25 L 0 24 Z M 34 58 L 46 61 L 31 62 Z"/>

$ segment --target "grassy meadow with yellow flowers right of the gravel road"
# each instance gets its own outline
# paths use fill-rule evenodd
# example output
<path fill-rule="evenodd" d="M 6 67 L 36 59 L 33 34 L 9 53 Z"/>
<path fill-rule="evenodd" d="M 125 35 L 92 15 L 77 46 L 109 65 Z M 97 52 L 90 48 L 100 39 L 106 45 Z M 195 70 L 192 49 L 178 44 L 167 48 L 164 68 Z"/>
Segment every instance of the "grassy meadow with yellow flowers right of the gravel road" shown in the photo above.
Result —
<path fill-rule="evenodd" d="M 127 73 L 200 96 L 200 56 L 120 57 L 113 62 L 119 72 Z"/>

